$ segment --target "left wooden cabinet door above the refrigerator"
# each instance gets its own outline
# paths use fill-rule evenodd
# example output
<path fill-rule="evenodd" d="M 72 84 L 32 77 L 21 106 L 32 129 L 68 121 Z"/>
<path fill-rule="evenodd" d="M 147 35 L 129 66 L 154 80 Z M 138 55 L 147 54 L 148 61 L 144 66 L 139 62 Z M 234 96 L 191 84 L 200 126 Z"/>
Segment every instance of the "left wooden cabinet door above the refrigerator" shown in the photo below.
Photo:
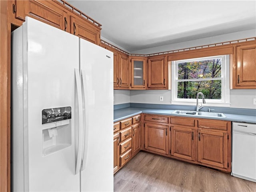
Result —
<path fill-rule="evenodd" d="M 67 11 L 53 1 L 16 0 L 13 6 L 16 19 L 25 21 L 29 16 L 61 30 L 67 26 Z"/>

